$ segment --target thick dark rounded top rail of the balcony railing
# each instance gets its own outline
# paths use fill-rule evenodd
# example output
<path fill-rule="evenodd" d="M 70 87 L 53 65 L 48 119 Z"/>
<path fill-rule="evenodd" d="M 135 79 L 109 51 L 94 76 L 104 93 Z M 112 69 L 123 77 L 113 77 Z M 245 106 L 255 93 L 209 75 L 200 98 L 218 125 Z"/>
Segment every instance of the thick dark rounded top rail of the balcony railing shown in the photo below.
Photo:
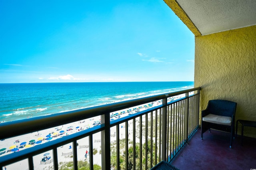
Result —
<path fill-rule="evenodd" d="M 38 130 L 44 130 L 47 128 L 57 127 L 67 123 L 88 119 L 90 117 L 104 115 L 105 113 L 111 113 L 114 111 L 119 111 L 122 109 L 129 108 L 129 107 L 138 106 L 144 103 L 150 103 L 152 101 L 157 101 L 157 100 L 165 99 L 168 97 L 189 93 L 191 91 L 199 91 L 200 89 L 201 89 L 200 87 L 196 87 L 196 88 L 176 91 L 172 93 L 165 93 L 165 94 L 160 94 L 160 95 L 155 95 L 150 97 L 133 99 L 130 101 L 122 101 L 118 103 L 111 103 L 107 105 L 89 107 L 86 109 L 79 109 L 76 111 L 57 113 L 54 115 L 47 115 L 44 117 L 35 117 L 30 119 L 23 119 L 18 121 L 1 123 L 0 134 L 1 134 L 1 138 L 9 138 L 13 136 L 27 134 L 27 133 L 35 132 Z"/>

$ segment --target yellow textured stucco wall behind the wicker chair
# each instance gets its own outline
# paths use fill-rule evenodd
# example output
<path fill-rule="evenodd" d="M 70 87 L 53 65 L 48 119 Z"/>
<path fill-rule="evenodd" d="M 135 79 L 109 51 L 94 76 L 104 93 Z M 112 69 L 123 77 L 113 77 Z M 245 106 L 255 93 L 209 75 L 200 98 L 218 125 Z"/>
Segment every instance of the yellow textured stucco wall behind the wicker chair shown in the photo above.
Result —
<path fill-rule="evenodd" d="M 225 99 L 237 103 L 236 120 L 256 121 L 256 26 L 196 37 L 194 84 L 202 87 L 200 111 Z M 256 128 L 244 135 L 256 137 Z"/>

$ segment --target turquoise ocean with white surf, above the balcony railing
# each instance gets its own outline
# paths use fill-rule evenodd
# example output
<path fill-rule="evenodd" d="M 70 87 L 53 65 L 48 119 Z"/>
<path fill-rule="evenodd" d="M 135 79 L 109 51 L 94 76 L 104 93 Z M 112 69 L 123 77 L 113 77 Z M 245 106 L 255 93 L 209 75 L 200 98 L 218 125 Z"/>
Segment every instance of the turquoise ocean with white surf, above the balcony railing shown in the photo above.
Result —
<path fill-rule="evenodd" d="M 193 87 L 193 81 L 2 83 L 0 122 L 62 113 Z"/>

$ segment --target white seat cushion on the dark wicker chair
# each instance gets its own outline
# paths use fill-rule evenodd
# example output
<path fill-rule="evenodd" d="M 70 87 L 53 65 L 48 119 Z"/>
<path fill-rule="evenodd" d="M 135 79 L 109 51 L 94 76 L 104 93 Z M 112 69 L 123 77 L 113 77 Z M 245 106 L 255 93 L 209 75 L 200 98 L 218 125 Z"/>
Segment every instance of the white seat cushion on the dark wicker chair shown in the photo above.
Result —
<path fill-rule="evenodd" d="M 227 116 L 219 116 L 219 115 L 213 115 L 209 114 L 203 117 L 203 121 L 210 122 L 210 123 L 216 123 L 220 125 L 232 125 L 232 118 Z"/>

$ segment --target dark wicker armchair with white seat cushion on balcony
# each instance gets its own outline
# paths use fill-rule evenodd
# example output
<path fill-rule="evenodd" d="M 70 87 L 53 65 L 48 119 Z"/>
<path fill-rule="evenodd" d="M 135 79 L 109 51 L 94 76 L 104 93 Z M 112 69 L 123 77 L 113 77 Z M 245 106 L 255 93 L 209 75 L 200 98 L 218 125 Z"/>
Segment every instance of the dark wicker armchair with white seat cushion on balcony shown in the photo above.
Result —
<path fill-rule="evenodd" d="M 210 100 L 202 111 L 201 138 L 208 129 L 230 132 L 230 148 L 235 132 L 236 103 L 227 100 Z"/>

